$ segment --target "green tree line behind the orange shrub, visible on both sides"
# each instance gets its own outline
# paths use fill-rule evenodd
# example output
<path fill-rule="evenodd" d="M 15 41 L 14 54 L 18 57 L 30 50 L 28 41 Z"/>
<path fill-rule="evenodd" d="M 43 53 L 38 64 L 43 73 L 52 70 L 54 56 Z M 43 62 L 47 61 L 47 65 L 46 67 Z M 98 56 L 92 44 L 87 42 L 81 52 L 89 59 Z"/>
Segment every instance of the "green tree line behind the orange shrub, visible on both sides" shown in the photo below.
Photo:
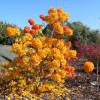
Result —
<path fill-rule="evenodd" d="M 92 30 L 82 22 L 66 22 L 65 25 L 70 26 L 74 34 L 71 37 L 63 37 L 64 39 L 69 39 L 73 44 L 75 41 L 80 40 L 83 44 L 100 44 L 100 31 Z M 12 44 L 14 38 L 10 38 L 6 35 L 6 28 L 8 26 L 17 27 L 14 24 L 9 24 L 5 22 L 0 22 L 0 44 Z M 43 29 L 43 33 L 45 35 L 49 35 L 52 32 L 52 27 L 50 25 L 46 25 Z"/>

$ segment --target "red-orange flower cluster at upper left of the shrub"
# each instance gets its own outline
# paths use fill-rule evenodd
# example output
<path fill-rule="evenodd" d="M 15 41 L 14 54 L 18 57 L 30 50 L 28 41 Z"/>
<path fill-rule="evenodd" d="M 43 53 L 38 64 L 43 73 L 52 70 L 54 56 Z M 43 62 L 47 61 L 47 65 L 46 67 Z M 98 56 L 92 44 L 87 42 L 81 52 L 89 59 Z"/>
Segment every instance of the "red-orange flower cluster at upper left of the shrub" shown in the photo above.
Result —
<path fill-rule="evenodd" d="M 28 23 L 31 25 L 31 28 L 29 26 L 24 27 L 24 33 L 31 33 L 33 35 L 40 32 L 40 29 L 42 28 L 41 24 L 35 24 L 33 19 L 29 19 Z"/>

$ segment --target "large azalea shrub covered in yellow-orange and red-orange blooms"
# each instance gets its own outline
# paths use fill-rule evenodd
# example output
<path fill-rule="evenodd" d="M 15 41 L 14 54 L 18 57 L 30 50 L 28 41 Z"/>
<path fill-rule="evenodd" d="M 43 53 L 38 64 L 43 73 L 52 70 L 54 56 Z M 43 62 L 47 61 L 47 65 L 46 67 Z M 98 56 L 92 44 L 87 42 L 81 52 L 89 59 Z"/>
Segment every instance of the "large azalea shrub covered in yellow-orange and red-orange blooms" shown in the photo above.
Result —
<path fill-rule="evenodd" d="M 64 87 L 65 78 L 75 76 L 75 68 L 69 65 L 70 58 L 76 58 L 76 51 L 71 50 L 71 43 L 59 36 L 71 36 L 73 31 L 64 26 L 69 15 L 62 8 L 51 8 L 48 15 L 40 18 L 52 25 L 51 36 L 43 35 L 41 24 L 29 19 L 30 26 L 24 27 L 24 34 L 19 29 L 8 27 L 9 36 L 16 36 L 11 52 L 17 54 L 12 62 L 3 63 L 7 71 L 1 78 L 2 87 L 8 88 L 8 97 L 39 97 L 49 92 L 54 96 L 65 96 L 68 89 Z M 1 91 L 3 94 L 5 91 Z M 67 98 L 67 97 L 66 97 Z"/>

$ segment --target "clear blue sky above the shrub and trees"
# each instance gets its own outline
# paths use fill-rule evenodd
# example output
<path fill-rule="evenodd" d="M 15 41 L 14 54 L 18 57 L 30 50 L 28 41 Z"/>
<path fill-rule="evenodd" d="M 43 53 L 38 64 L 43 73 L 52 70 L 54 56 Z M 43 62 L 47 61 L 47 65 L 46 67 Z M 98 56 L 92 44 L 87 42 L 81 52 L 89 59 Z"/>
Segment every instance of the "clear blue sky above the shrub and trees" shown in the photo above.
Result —
<path fill-rule="evenodd" d="M 47 14 L 50 7 L 62 7 L 69 12 L 69 21 L 81 21 L 92 29 L 100 29 L 100 0 L 0 0 L 0 21 L 27 25 L 33 18 L 42 23 L 40 14 Z"/>

